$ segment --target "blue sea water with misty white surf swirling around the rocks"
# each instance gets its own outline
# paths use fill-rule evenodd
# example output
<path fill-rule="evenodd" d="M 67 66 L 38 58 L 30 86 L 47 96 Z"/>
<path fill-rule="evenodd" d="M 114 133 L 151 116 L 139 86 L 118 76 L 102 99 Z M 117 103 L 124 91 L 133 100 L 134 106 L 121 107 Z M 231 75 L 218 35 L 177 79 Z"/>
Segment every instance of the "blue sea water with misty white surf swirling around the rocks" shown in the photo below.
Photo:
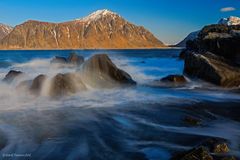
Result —
<path fill-rule="evenodd" d="M 26 73 L 11 85 L 0 82 L 0 159 L 167 160 L 208 137 L 227 139 L 231 153 L 240 155 L 239 94 L 200 80 L 179 87 L 152 85 L 182 74 L 180 50 L 75 51 L 86 59 L 107 53 L 137 81 L 136 87 L 92 88 L 58 100 L 15 90 L 39 74 L 74 72 L 50 65 L 52 57 L 70 52 L 0 51 L 0 79 L 10 69 Z M 189 115 L 201 125 L 184 123 Z"/>

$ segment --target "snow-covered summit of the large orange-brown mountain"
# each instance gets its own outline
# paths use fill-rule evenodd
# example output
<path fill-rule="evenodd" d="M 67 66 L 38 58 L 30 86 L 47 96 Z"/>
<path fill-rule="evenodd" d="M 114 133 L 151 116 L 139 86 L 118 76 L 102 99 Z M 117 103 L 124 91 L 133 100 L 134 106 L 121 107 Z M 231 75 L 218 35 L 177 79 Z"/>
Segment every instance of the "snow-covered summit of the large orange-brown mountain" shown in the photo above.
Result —
<path fill-rule="evenodd" d="M 81 21 L 96 21 L 102 17 L 105 16 L 112 16 L 113 18 L 116 17 L 120 17 L 117 13 L 112 12 L 110 10 L 107 9 L 102 9 L 102 10 L 97 10 L 95 12 L 93 12 L 92 14 L 90 14 L 87 17 L 81 18 L 81 19 L 77 19 L 77 20 L 81 20 Z"/>

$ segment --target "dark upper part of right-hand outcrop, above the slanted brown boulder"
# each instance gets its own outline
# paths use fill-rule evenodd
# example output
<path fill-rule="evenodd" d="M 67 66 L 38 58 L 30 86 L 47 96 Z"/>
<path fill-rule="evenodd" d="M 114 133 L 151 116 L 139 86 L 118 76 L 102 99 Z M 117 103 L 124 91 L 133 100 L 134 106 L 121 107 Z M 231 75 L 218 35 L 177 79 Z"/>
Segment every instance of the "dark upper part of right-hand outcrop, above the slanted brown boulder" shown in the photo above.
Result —
<path fill-rule="evenodd" d="M 234 63 L 240 63 L 240 25 L 209 25 L 204 27 L 198 38 L 189 41 L 187 50 L 212 52 Z"/>

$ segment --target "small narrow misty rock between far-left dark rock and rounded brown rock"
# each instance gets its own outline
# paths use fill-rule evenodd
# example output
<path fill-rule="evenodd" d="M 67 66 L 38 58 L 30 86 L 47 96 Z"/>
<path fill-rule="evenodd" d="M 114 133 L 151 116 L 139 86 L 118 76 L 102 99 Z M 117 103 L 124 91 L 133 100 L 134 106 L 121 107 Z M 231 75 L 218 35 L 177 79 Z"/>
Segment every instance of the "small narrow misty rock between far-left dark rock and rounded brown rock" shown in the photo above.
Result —
<path fill-rule="evenodd" d="M 47 79 L 46 75 L 39 75 L 34 78 L 32 85 L 30 86 L 30 91 L 34 94 L 40 94 L 44 81 Z"/>

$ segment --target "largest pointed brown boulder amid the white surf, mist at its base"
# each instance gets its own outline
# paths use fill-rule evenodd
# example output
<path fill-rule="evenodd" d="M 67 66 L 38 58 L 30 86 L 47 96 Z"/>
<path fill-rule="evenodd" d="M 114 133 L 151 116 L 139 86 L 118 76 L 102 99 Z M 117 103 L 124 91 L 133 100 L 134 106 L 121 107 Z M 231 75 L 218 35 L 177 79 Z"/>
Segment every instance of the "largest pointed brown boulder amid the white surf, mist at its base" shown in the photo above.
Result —
<path fill-rule="evenodd" d="M 136 82 L 125 71 L 117 68 L 106 54 L 92 56 L 84 62 L 81 74 L 84 82 L 93 87 L 134 85 Z"/>

